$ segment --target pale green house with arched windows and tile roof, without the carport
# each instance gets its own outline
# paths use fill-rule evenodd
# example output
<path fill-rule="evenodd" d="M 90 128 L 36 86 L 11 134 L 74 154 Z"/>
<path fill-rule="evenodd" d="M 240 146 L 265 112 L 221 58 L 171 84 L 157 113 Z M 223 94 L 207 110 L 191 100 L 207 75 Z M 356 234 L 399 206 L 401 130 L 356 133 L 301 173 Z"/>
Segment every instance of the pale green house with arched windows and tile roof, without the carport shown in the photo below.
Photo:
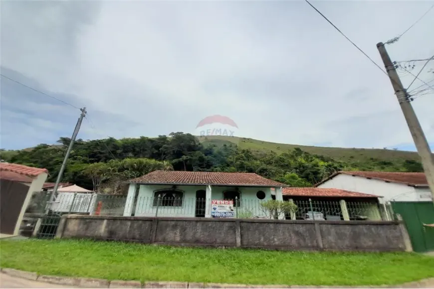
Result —
<path fill-rule="evenodd" d="M 260 203 L 283 200 L 287 186 L 242 172 L 157 170 L 129 182 L 124 216 L 211 217 L 218 201 L 229 200 L 232 205 L 224 206 L 233 210 L 230 214 L 249 211 L 263 217 Z"/>

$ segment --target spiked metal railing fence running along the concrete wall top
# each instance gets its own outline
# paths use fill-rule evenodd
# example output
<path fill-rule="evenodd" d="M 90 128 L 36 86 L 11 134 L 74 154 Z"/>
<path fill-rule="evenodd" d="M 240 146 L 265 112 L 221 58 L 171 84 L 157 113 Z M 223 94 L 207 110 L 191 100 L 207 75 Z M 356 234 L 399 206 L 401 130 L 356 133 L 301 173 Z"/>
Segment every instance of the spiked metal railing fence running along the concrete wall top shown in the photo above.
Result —
<path fill-rule="evenodd" d="M 49 192 L 41 192 L 32 198 L 26 213 L 40 213 L 34 223 L 34 236 L 54 237 L 63 214 L 89 214 L 100 216 L 146 216 L 146 217 L 205 217 L 211 200 L 196 198 L 129 198 L 118 195 L 59 193 L 48 202 Z M 376 202 L 344 202 L 322 200 L 289 200 L 291 210 L 270 207 L 271 200 L 235 199 L 231 210 L 234 218 L 279 218 L 289 220 L 391 220 L 390 206 Z M 271 201 L 273 202 L 273 201 Z M 274 201 L 275 202 L 275 201 Z M 277 202 L 278 203 L 278 202 Z M 268 205 L 267 205 L 268 204 Z M 211 208 L 210 208 L 211 210 Z"/>

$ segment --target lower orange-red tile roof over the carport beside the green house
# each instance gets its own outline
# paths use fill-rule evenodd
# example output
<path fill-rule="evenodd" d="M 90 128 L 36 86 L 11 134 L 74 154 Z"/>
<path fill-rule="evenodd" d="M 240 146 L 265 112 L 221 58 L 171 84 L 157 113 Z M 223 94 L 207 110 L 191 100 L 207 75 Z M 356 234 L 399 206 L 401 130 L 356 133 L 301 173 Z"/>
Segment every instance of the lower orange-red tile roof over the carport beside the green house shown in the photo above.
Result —
<path fill-rule="evenodd" d="M 381 196 L 332 188 L 283 188 L 282 194 L 302 197 L 381 198 Z"/>

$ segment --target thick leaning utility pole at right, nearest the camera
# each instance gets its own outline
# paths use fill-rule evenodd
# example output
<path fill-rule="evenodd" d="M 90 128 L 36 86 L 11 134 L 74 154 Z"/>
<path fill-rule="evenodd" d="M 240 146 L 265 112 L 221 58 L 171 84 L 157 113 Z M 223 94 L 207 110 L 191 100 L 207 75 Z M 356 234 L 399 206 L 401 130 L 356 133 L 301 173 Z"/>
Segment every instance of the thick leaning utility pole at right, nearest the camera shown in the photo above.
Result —
<path fill-rule="evenodd" d="M 377 48 L 380 52 L 381 58 L 383 59 L 384 66 L 386 67 L 390 81 L 392 82 L 393 89 L 395 90 L 398 102 L 400 103 L 404 117 L 407 121 L 407 125 L 409 126 L 413 141 L 415 142 L 418 153 L 421 156 L 425 176 L 427 177 L 428 185 L 430 186 L 431 195 L 433 196 L 434 202 L 434 158 L 433 154 L 431 153 L 430 145 L 428 144 L 418 117 L 416 116 L 412 104 L 410 103 L 410 96 L 403 87 L 401 79 L 396 72 L 395 65 L 392 63 L 392 60 L 390 59 L 383 42 L 377 43 Z"/>

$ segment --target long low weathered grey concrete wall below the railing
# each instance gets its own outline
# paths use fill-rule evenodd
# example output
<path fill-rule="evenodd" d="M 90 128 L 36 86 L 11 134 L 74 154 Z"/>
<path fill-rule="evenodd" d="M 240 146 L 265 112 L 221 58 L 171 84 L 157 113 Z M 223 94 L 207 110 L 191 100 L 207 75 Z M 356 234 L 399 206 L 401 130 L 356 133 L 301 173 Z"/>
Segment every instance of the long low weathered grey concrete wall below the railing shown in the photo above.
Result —
<path fill-rule="evenodd" d="M 296 221 L 64 215 L 56 238 L 282 250 L 411 251 L 399 221 Z"/>

